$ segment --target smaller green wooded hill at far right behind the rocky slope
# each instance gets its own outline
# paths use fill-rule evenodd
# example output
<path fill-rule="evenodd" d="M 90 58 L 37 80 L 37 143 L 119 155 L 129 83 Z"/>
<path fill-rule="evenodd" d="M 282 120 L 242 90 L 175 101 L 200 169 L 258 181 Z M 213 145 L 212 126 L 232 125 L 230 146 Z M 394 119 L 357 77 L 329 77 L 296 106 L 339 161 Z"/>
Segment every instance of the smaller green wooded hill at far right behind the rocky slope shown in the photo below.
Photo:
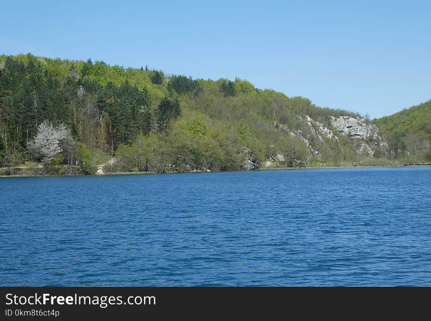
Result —
<path fill-rule="evenodd" d="M 374 122 L 387 135 L 394 154 L 431 159 L 431 100 Z"/>

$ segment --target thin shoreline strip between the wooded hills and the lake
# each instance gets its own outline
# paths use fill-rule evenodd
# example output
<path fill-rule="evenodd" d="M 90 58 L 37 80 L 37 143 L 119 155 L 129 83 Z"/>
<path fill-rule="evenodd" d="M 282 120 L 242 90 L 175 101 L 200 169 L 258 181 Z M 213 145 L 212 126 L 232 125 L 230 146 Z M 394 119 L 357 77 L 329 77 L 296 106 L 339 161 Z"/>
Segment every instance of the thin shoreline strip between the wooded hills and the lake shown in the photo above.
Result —
<path fill-rule="evenodd" d="M 315 169 L 354 169 L 354 168 L 409 168 L 409 167 L 431 167 L 430 164 L 416 164 L 416 165 L 383 165 L 383 166 L 325 166 L 325 167 L 274 167 L 274 168 L 262 168 L 257 170 L 239 170 L 239 171 L 213 171 L 213 173 L 220 172 L 241 172 L 241 171 L 281 171 L 281 170 L 315 170 Z M 0 178 L 18 178 L 18 177 L 85 177 L 85 176 L 115 176 L 115 175 L 146 175 L 146 174 L 198 174 L 208 173 L 208 171 L 197 171 L 197 172 L 171 172 L 171 173 L 158 173 L 154 171 L 118 171 L 118 172 L 106 172 L 103 174 L 93 175 L 0 175 Z"/>

